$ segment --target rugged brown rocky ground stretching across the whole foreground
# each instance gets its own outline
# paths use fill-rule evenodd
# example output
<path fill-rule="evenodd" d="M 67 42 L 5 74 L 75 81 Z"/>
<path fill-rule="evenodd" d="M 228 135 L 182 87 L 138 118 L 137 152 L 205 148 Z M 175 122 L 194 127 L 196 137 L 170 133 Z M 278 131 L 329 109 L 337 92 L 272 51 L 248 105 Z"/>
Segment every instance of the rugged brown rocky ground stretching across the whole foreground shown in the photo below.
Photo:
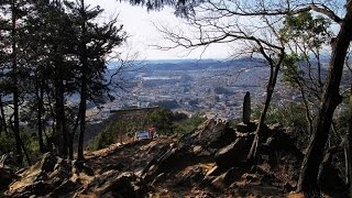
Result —
<path fill-rule="evenodd" d="M 110 145 L 86 153 L 85 162 L 46 153 L 16 173 L 0 167 L 0 188 L 9 197 L 302 197 L 290 194 L 304 156 L 295 140 L 279 124 L 268 125 L 249 163 L 254 129 L 208 120 L 180 139 Z M 341 190 L 336 186 L 332 191 Z"/>

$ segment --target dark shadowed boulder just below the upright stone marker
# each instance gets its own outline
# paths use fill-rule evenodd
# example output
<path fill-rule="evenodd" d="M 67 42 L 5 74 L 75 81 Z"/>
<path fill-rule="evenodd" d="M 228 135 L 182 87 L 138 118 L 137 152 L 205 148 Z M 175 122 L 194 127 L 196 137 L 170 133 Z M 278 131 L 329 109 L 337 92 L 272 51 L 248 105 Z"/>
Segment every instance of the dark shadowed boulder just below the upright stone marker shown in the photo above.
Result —
<path fill-rule="evenodd" d="M 219 167 L 232 167 L 246 161 L 252 141 L 246 138 L 238 138 L 233 143 L 222 147 L 215 155 Z"/>

